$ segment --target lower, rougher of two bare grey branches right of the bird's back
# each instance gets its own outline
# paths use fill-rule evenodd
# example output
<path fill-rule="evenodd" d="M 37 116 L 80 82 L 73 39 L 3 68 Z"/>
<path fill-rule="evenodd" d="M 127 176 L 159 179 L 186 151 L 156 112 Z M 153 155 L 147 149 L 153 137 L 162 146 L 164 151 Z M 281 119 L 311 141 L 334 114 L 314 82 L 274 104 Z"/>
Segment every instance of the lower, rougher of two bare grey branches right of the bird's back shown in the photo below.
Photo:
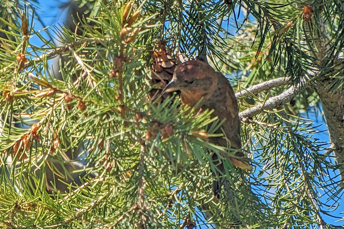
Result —
<path fill-rule="evenodd" d="M 239 117 L 246 122 L 246 118 L 251 118 L 264 110 L 270 110 L 277 106 L 280 106 L 286 102 L 289 102 L 295 95 L 301 91 L 301 85 L 290 87 L 287 91 L 281 93 L 280 95 L 274 96 L 265 101 L 264 104 L 259 104 L 257 106 L 248 108 L 245 111 L 239 113 Z"/>

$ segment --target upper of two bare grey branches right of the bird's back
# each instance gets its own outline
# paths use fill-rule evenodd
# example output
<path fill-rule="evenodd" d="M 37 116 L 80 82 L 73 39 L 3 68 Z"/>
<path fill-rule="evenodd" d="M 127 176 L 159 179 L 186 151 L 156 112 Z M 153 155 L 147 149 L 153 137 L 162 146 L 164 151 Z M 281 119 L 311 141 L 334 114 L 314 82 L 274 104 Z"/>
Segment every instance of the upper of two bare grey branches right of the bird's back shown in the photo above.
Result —
<path fill-rule="evenodd" d="M 290 83 L 290 77 L 281 77 L 277 79 L 272 79 L 269 81 L 265 81 L 256 85 L 253 85 L 247 89 L 244 89 L 238 93 L 235 93 L 235 96 L 238 98 L 246 98 L 250 96 L 251 94 L 257 94 L 262 91 L 269 90 L 271 88 L 275 88 L 278 86 L 287 85 Z"/>

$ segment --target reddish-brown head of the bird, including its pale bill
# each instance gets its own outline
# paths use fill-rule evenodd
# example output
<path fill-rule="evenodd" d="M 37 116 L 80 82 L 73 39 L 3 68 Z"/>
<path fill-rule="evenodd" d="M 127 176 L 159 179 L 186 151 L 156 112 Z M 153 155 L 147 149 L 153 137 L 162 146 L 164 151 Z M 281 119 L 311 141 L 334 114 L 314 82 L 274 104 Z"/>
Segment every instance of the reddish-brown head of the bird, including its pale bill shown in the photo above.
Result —
<path fill-rule="evenodd" d="M 172 80 L 161 93 L 180 90 L 182 94 L 201 99 L 202 96 L 213 93 L 214 84 L 217 84 L 217 72 L 206 62 L 191 60 L 174 69 Z"/>

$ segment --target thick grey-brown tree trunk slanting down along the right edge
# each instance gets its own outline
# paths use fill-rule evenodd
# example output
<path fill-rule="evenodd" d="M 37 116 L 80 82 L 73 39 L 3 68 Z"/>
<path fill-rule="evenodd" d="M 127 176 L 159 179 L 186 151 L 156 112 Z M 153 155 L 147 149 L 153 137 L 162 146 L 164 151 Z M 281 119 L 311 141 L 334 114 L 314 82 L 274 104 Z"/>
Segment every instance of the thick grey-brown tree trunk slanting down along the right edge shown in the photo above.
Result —
<path fill-rule="evenodd" d="M 317 25 L 317 26 L 314 26 Z M 317 71 L 315 73 L 321 72 L 325 66 L 332 60 L 332 66 L 327 66 L 327 69 L 334 67 L 341 63 L 338 58 L 338 53 L 331 52 L 331 44 L 333 44 L 333 37 L 329 38 L 329 33 L 325 29 L 326 22 L 321 16 L 321 12 L 315 14 L 312 17 L 311 23 L 305 24 L 305 34 L 309 36 L 309 39 L 314 41 L 315 47 L 312 44 L 308 44 L 310 50 L 314 50 L 312 55 L 317 59 L 318 64 Z M 312 36 L 311 36 L 312 35 Z M 335 38 L 338 39 L 338 38 Z M 313 75 L 315 75 L 315 73 Z M 335 74 L 335 73 L 333 73 Z M 333 76 L 333 75 L 332 75 Z M 337 164 L 344 162 L 344 125 L 343 125 L 343 114 L 344 114 L 344 86 L 341 86 L 338 90 L 330 90 L 335 83 L 336 78 L 321 77 L 316 78 L 315 83 L 312 85 L 313 89 L 319 95 L 324 116 L 326 119 L 327 129 L 329 130 L 331 148 L 333 149 L 335 155 L 335 161 Z M 327 152 L 329 153 L 329 151 Z M 341 174 L 340 186 L 344 185 L 344 166 L 341 164 L 339 166 L 339 171 Z"/>

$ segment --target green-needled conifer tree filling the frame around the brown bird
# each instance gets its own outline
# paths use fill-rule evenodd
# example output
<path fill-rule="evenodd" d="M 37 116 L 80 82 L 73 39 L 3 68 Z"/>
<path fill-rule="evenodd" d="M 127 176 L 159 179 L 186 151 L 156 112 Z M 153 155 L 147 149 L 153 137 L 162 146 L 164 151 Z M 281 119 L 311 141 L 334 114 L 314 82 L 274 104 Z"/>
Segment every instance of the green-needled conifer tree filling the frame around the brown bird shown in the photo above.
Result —
<path fill-rule="evenodd" d="M 80 1 L 74 31 L 3 2 L 1 228 L 342 228 L 323 219 L 343 186 L 341 1 Z M 225 120 L 160 95 L 191 59 L 232 83 L 254 171 L 209 143 Z M 330 146 L 301 117 L 320 105 Z"/>

